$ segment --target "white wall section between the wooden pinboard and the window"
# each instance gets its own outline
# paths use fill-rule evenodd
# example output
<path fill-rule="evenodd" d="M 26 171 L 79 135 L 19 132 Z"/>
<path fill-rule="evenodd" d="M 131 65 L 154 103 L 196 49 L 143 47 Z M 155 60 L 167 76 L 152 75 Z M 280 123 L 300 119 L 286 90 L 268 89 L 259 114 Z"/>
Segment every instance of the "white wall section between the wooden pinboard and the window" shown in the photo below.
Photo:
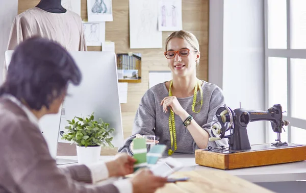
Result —
<path fill-rule="evenodd" d="M 214 16 L 220 11 L 223 2 L 223 29 L 219 28 L 223 38 L 210 37 L 210 44 L 222 44 L 222 64 L 209 60 L 212 67 L 222 71 L 217 76 L 217 70 L 209 74 L 211 83 L 221 86 L 226 105 L 232 109 L 241 108 L 265 110 L 264 84 L 264 1 L 263 0 L 212 0 L 210 1 L 210 29 L 216 28 L 215 23 L 220 18 Z M 219 10 L 216 10 L 219 4 Z M 220 14 L 221 15 L 221 14 Z M 215 27 L 213 27 L 215 26 Z M 212 32 L 210 33 L 210 36 Z M 220 43 L 221 41 L 221 43 Z M 211 46 L 209 47 L 211 49 Z M 209 53 L 209 58 L 216 56 L 217 51 Z M 222 67 L 220 67 L 222 66 Z M 214 74 L 215 73 L 215 74 Z M 217 77 L 217 78 L 216 78 Z M 220 85 L 220 82 L 222 84 Z M 265 142 L 264 122 L 253 122 L 247 127 L 251 144 Z"/>

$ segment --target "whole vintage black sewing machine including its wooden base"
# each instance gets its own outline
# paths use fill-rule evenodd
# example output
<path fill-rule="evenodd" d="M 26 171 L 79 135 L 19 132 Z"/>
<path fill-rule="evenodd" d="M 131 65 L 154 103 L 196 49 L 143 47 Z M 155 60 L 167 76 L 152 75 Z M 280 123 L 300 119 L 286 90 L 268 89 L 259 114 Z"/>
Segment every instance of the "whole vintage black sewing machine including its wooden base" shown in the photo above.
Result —
<path fill-rule="evenodd" d="M 277 133 L 276 142 L 250 145 L 247 125 L 250 122 L 267 120 Z M 281 133 L 289 122 L 283 120 L 281 105 L 267 111 L 255 111 L 220 107 L 211 124 L 210 141 L 228 138 L 228 147 L 200 149 L 195 151 L 195 162 L 199 165 L 230 170 L 234 168 L 272 165 L 306 160 L 306 145 L 281 141 Z M 284 130 L 285 131 L 285 130 Z M 225 135 L 225 132 L 229 133 Z"/>

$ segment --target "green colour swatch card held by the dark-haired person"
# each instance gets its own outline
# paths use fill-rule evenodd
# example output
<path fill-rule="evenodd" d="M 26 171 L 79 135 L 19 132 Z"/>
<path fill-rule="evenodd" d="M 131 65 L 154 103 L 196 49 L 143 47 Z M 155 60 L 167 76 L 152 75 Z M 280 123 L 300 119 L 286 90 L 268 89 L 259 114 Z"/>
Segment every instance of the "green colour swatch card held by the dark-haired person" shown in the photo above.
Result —
<path fill-rule="evenodd" d="M 145 144 L 145 139 L 143 138 L 135 138 L 133 142 L 134 142 L 133 157 L 137 160 L 134 164 L 134 171 L 136 171 L 140 167 L 147 166 L 147 160 L 146 160 L 147 148 Z"/>

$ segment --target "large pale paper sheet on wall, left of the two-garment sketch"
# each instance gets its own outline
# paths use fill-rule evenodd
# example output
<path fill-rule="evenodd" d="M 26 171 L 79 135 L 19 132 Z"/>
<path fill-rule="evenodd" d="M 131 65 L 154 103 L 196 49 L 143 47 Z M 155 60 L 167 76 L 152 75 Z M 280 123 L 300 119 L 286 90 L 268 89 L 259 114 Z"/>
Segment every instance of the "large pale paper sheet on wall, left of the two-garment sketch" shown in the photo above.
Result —
<path fill-rule="evenodd" d="M 130 0 L 130 48 L 163 47 L 158 30 L 158 1 Z"/>

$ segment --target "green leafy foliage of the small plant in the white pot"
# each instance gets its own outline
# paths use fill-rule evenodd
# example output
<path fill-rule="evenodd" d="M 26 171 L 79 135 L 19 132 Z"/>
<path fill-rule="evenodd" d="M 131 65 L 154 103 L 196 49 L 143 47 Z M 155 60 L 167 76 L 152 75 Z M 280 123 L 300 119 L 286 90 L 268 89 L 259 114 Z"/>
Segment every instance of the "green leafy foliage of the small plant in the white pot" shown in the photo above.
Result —
<path fill-rule="evenodd" d="M 94 112 L 89 118 L 75 116 L 72 120 L 67 120 L 69 126 L 65 127 L 68 130 L 62 139 L 77 143 L 78 146 L 109 146 L 114 147 L 111 141 L 113 137 L 111 133 L 114 128 L 109 128 L 109 123 L 104 123 L 101 118 L 98 121 L 94 120 Z"/>

